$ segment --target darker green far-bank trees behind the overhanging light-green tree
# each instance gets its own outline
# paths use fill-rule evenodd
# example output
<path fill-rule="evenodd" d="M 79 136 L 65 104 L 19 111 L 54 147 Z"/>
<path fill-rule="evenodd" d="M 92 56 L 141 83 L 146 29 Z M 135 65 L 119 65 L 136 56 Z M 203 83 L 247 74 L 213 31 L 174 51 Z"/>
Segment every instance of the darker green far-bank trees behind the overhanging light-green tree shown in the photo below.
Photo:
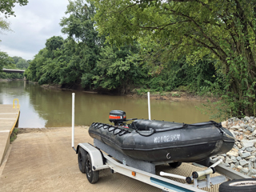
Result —
<path fill-rule="evenodd" d="M 27 79 L 39 84 L 58 83 L 85 89 L 115 90 L 120 94 L 138 89 L 138 94 L 148 90 L 171 91 L 178 86 L 188 86 L 200 91 L 208 86 L 204 80 L 214 82 L 214 62 L 207 57 L 196 66 L 185 56 L 174 61 L 168 53 L 169 46 L 154 42 L 150 36 L 120 47 L 103 42 L 95 30 L 95 7 L 91 2 L 70 1 L 60 25 L 62 37 L 46 40 L 46 48 L 39 51 L 25 72 Z M 17 58 L 14 58 L 17 60 Z"/>

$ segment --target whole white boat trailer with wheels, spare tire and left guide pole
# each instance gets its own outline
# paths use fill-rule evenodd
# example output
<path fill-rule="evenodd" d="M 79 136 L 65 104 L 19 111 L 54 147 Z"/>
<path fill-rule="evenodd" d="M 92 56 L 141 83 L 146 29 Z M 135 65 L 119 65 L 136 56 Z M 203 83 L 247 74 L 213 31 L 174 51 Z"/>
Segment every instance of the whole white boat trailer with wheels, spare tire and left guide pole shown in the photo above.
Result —
<path fill-rule="evenodd" d="M 179 191 L 202 192 L 202 188 L 212 188 L 220 183 L 227 183 L 220 192 L 233 191 L 256 191 L 256 179 L 250 178 L 226 166 L 222 166 L 218 162 L 210 160 L 211 166 L 201 168 L 201 170 L 193 171 L 190 175 L 182 176 L 179 174 L 170 174 L 160 171 L 160 175 L 156 174 L 156 166 L 169 164 L 173 168 L 174 162 L 145 162 L 138 159 L 130 158 L 122 154 L 118 150 L 114 150 L 105 143 L 94 138 L 94 145 L 85 142 L 79 143 L 74 148 L 74 94 L 72 99 L 72 148 L 78 154 L 79 170 L 86 174 L 86 178 L 90 183 L 98 182 L 99 170 L 110 169 L 111 173 L 119 173 L 127 177 L 134 178 L 140 182 L 145 182 L 151 186 L 155 186 L 162 191 Z M 177 164 L 177 163 L 176 163 Z M 198 164 L 196 164 L 198 165 Z M 180 166 L 176 165 L 176 167 Z M 190 164 L 188 164 L 190 166 Z M 192 165 L 191 165 L 192 166 Z M 198 165 L 200 166 L 200 165 Z M 201 166 L 202 167 L 202 166 Z M 170 169 L 174 170 L 174 169 Z M 218 172 L 218 176 L 210 177 L 210 174 Z M 169 178 L 164 178 L 167 176 Z M 178 178 L 184 182 L 177 182 L 170 178 Z M 238 180 L 237 180 L 238 179 Z M 226 182 L 230 180 L 230 182 Z M 254 189 L 254 190 L 248 190 Z M 246 190 L 247 189 L 247 190 Z"/>

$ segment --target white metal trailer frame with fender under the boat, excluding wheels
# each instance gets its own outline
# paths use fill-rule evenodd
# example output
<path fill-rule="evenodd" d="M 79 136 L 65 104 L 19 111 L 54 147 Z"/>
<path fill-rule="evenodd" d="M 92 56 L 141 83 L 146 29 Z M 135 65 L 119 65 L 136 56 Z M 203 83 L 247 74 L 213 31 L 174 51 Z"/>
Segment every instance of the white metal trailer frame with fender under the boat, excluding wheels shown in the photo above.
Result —
<path fill-rule="evenodd" d="M 200 190 L 199 188 L 206 186 L 210 187 L 234 178 L 250 178 L 244 174 L 240 174 L 234 170 L 231 170 L 230 168 L 218 165 L 215 166 L 216 170 L 220 170 L 220 174 L 225 174 L 225 176 L 220 175 L 210 178 L 210 174 L 206 173 L 206 179 L 199 181 L 197 178 L 192 178 L 191 176 L 192 180 L 194 180 L 194 183 L 184 184 L 181 182 L 175 182 L 169 178 L 163 178 L 155 174 L 154 169 L 156 165 L 162 165 L 168 162 L 158 162 L 154 164 L 130 158 L 95 138 L 94 145 L 91 145 L 88 142 L 79 143 L 76 150 L 77 154 L 79 150 L 85 150 L 86 153 L 90 155 L 91 171 L 110 169 L 112 173 L 126 175 L 127 177 L 134 178 L 140 182 L 145 182 L 151 186 L 162 189 L 162 191 L 202 192 L 205 190 Z M 145 165 L 142 165 L 143 163 L 145 163 Z M 174 177 L 176 176 L 174 175 Z M 178 178 L 178 175 L 176 178 Z M 90 182 L 90 180 L 88 181 Z"/>

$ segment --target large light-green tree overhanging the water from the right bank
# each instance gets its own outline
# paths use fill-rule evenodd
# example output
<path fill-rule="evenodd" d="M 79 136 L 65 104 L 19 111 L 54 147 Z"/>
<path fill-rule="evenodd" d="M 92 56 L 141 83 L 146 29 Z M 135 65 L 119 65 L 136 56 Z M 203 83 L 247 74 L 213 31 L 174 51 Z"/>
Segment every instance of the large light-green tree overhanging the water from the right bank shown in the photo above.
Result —
<path fill-rule="evenodd" d="M 196 63 L 218 59 L 226 116 L 254 115 L 256 90 L 256 2 L 245 0 L 94 0 L 100 34 L 121 45 L 150 35 L 171 58 Z M 218 88 L 218 85 L 213 85 Z M 216 90 L 216 89 L 215 89 Z"/>

